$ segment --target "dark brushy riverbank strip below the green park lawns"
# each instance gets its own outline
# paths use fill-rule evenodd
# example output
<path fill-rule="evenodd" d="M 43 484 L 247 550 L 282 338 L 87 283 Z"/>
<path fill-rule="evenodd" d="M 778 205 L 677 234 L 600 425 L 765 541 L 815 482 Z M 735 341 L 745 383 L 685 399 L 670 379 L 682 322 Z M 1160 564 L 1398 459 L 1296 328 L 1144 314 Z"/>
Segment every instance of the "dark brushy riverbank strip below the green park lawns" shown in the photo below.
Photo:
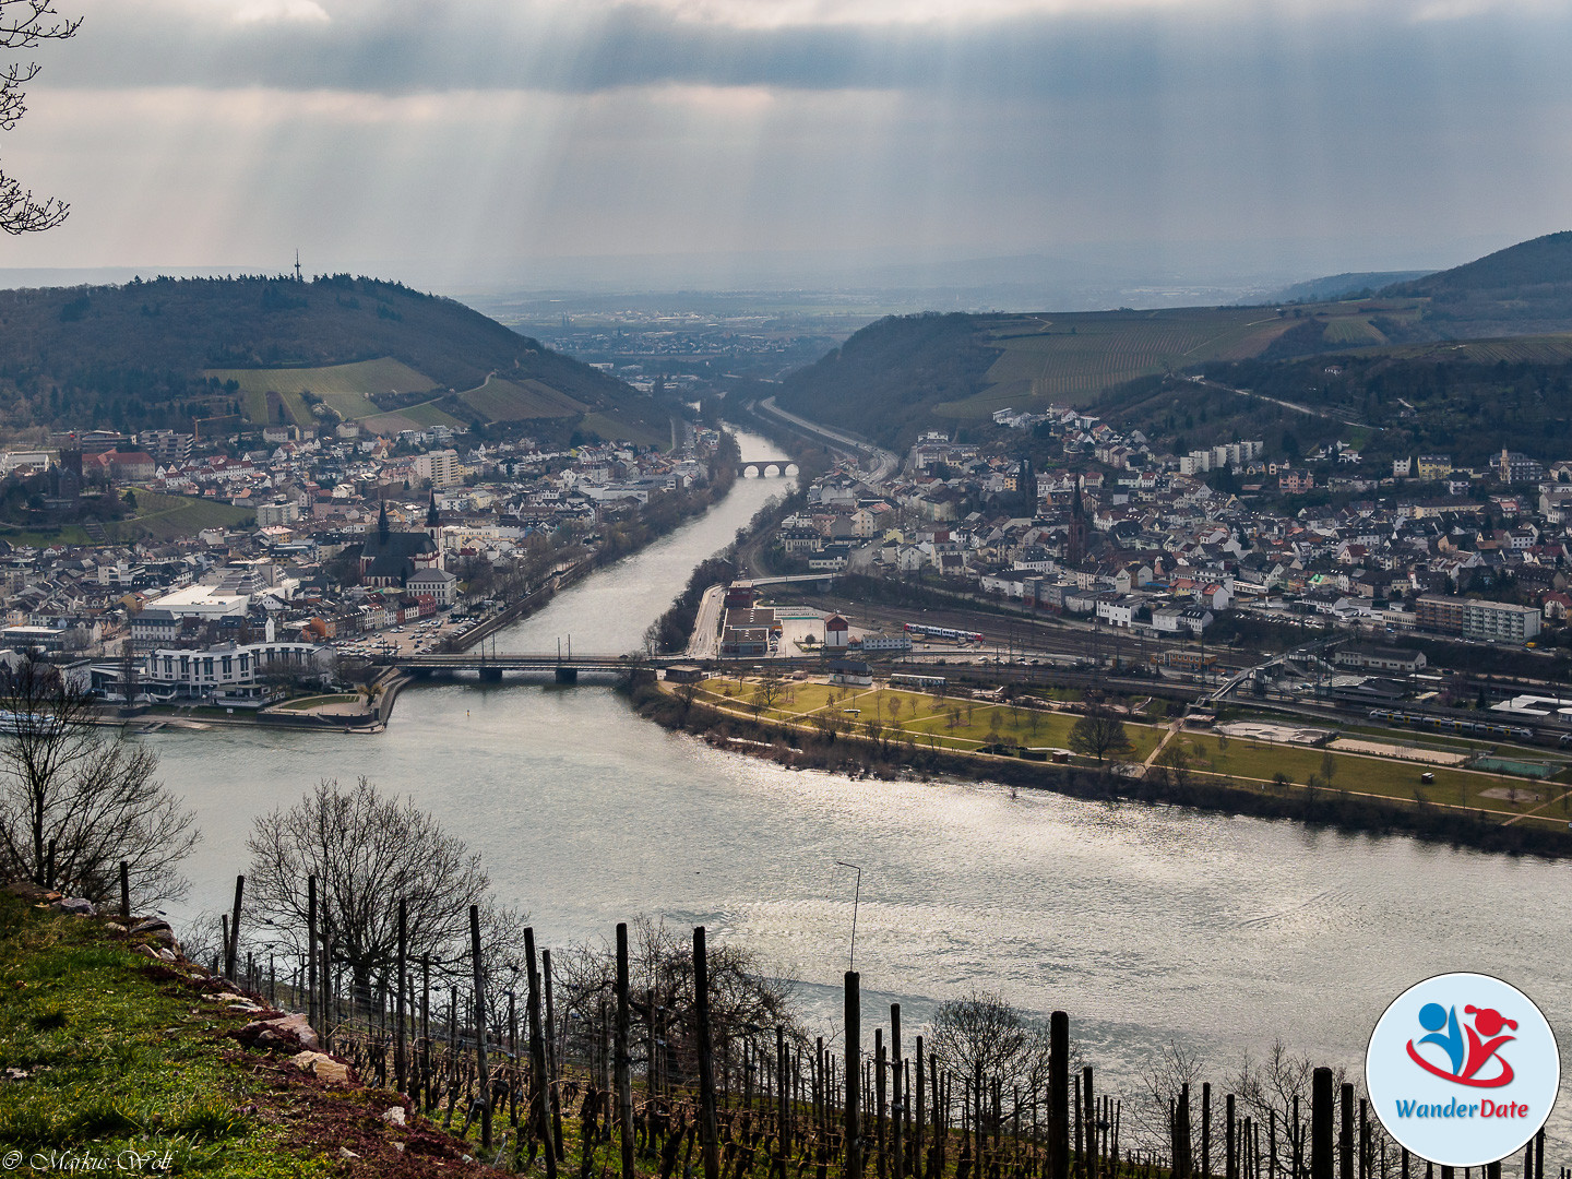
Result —
<path fill-rule="evenodd" d="M 852 778 L 959 778 L 1042 789 L 1074 799 L 1185 806 L 1256 819 L 1292 819 L 1309 827 L 1361 835 L 1407 835 L 1484 852 L 1572 857 L 1572 830 L 1556 824 L 1520 825 L 1438 803 L 1404 803 L 1331 786 L 1239 781 L 1188 772 L 1174 777 L 1146 766 L 1140 777 L 1074 764 L 1030 761 L 997 753 L 923 747 L 890 736 L 866 737 L 813 725 L 755 720 L 684 698 L 667 684 L 635 689 L 638 715 L 667 729 L 786 766 Z"/>

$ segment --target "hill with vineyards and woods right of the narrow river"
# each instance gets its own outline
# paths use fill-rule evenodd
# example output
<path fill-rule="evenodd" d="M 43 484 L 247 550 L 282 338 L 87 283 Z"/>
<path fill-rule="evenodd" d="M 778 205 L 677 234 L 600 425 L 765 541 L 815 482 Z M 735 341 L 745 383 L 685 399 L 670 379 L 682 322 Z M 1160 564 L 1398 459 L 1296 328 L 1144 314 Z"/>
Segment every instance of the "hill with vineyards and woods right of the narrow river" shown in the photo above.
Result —
<path fill-rule="evenodd" d="M 1261 437 L 1281 456 L 1287 434 L 1467 462 L 1503 445 L 1564 457 L 1569 373 L 1563 233 L 1344 302 L 888 318 L 789 376 L 777 401 L 896 448 L 934 428 L 986 435 L 1005 407 L 1072 404 L 1181 453 Z"/>

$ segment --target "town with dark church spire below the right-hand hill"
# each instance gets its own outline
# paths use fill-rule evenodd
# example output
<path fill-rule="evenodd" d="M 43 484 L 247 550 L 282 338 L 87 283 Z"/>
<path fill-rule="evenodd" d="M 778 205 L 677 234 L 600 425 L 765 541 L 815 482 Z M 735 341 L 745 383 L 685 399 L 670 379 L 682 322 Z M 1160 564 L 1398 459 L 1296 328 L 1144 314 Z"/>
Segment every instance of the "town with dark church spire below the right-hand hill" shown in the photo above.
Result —
<path fill-rule="evenodd" d="M 1034 472 L 1008 434 L 927 432 L 880 486 L 844 465 L 817 479 L 780 525 L 783 564 L 940 578 L 1154 634 L 1232 613 L 1528 643 L 1572 608 L 1572 461 L 1371 470 L 1330 445 L 1291 467 L 1259 440 L 1155 453 L 1077 409 L 995 423 L 1050 434 L 1063 462 Z"/>

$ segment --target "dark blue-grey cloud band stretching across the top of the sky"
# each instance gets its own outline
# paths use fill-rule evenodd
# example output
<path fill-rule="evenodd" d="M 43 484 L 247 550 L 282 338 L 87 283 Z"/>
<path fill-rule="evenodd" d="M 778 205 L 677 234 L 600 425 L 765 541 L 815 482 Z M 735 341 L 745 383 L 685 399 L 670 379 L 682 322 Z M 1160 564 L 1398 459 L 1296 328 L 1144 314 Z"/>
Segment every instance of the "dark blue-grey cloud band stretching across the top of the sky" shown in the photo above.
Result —
<path fill-rule="evenodd" d="M 233 8 L 233 6 L 231 6 Z M 274 86 L 407 94 L 594 93 L 643 85 L 902 90 L 945 97 L 1160 101 L 1204 90 L 1240 102 L 1492 107 L 1564 91 L 1572 14 L 1495 9 L 1418 20 L 1404 5 L 1184 5 L 975 22 L 737 28 L 623 5 L 360 5 L 330 20 L 178 19 L 94 5 L 52 85 Z M 583 9 L 580 9 L 583 11 Z M 432 19 L 432 14 L 437 14 Z M 1506 93 L 1503 93 L 1506 86 Z"/>

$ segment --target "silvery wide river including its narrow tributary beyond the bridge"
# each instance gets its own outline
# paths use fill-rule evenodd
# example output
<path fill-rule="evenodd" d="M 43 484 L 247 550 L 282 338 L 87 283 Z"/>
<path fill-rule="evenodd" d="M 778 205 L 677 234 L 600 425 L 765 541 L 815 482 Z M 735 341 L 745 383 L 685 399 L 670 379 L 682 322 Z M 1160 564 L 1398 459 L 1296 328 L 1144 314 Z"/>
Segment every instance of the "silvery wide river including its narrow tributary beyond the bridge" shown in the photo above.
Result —
<path fill-rule="evenodd" d="M 781 489 L 739 479 L 706 517 L 561 594 L 498 649 L 553 651 L 567 635 L 580 651 L 637 646 L 692 566 Z M 225 904 L 256 814 L 319 778 L 366 775 L 479 850 L 545 945 L 608 937 L 637 913 L 703 923 L 797 979 L 825 1030 L 847 964 L 847 861 L 861 866 L 865 1027 L 888 1001 L 910 1028 L 940 1000 L 997 990 L 1069 1011 L 1088 1060 L 1126 1093 L 1168 1041 L 1201 1052 L 1214 1080 L 1273 1039 L 1363 1071 L 1385 1005 L 1448 970 L 1514 982 L 1561 1028 L 1563 1050 L 1572 1042 L 1572 865 L 992 784 L 792 773 L 668 734 L 604 687 L 418 687 L 369 737 L 146 740 L 204 836 L 185 920 Z M 1572 1102 L 1550 1130 L 1572 1144 Z"/>

